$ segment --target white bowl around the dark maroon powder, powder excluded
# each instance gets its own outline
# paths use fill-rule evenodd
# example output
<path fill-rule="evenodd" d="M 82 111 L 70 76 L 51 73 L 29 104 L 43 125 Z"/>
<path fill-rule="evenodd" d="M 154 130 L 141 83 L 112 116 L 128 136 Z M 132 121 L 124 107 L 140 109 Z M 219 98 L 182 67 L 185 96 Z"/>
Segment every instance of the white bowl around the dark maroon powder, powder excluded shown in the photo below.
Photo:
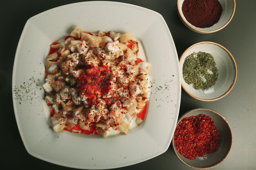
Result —
<path fill-rule="evenodd" d="M 192 31 L 198 33 L 214 33 L 223 29 L 234 16 L 235 9 L 236 9 L 236 0 L 219 0 L 222 6 L 222 14 L 220 16 L 220 20 L 211 27 L 208 28 L 198 28 L 193 26 L 189 23 L 182 13 L 182 4 L 184 0 L 177 0 L 177 11 L 179 13 L 180 19 L 182 20 L 183 24 L 186 25 Z"/>

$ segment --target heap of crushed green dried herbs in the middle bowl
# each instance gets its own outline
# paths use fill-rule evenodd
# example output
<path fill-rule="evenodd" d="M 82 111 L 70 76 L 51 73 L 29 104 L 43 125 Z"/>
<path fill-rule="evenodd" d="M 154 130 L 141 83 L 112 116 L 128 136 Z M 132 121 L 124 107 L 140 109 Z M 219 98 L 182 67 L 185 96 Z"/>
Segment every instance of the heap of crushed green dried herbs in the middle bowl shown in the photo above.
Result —
<path fill-rule="evenodd" d="M 207 90 L 215 85 L 218 79 L 218 68 L 209 53 L 191 53 L 186 57 L 182 70 L 185 82 L 196 90 Z"/>

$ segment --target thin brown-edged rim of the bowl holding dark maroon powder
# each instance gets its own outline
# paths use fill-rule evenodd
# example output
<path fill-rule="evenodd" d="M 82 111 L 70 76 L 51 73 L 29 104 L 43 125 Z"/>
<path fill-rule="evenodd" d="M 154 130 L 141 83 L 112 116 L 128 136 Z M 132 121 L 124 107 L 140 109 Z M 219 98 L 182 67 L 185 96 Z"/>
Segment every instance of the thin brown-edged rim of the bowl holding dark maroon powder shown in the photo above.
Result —
<path fill-rule="evenodd" d="M 233 0 L 233 4 L 234 4 L 233 5 L 233 11 L 232 11 L 232 14 L 231 14 L 229 20 L 227 21 L 227 23 L 224 24 L 219 29 L 215 29 L 215 30 L 212 30 L 212 31 L 202 31 L 202 30 L 196 29 L 194 26 L 191 26 L 186 20 L 184 20 L 184 18 L 181 15 L 182 11 L 180 11 L 180 9 L 179 9 L 179 0 L 177 0 L 177 10 L 178 10 L 179 16 L 182 19 L 182 21 L 186 24 L 186 26 L 189 26 L 190 29 L 192 29 L 194 31 L 197 31 L 199 33 L 214 33 L 214 32 L 220 31 L 221 29 L 225 28 L 225 26 L 227 26 L 227 24 L 229 24 L 229 22 L 232 20 L 234 14 L 235 14 L 235 11 L 236 11 L 236 0 Z"/>

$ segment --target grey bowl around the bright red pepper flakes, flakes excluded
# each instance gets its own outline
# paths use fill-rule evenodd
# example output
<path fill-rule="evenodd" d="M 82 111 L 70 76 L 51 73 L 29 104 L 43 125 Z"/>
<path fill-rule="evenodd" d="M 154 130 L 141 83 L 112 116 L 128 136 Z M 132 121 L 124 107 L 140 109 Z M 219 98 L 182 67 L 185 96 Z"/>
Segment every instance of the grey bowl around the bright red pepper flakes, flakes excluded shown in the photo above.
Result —
<path fill-rule="evenodd" d="M 173 150 L 175 154 L 177 155 L 178 159 L 182 161 L 182 163 L 184 163 L 185 165 L 191 168 L 205 170 L 205 169 L 210 169 L 218 166 L 227 158 L 232 147 L 233 136 L 227 120 L 222 115 L 220 115 L 220 113 L 207 108 L 198 108 L 198 109 L 194 109 L 186 112 L 178 120 L 176 130 L 178 129 L 177 127 L 179 126 L 183 118 L 189 118 L 189 117 L 197 116 L 200 114 L 204 114 L 207 117 L 210 117 L 213 120 L 216 126 L 216 129 L 218 130 L 219 141 L 218 141 L 217 150 L 213 153 L 203 154 L 202 157 L 196 157 L 195 159 L 191 160 L 191 159 L 186 159 L 177 151 L 176 146 L 174 144 L 175 135 L 173 136 L 172 145 L 173 145 Z M 183 147 L 182 150 L 189 153 L 189 150 L 186 147 Z"/>

